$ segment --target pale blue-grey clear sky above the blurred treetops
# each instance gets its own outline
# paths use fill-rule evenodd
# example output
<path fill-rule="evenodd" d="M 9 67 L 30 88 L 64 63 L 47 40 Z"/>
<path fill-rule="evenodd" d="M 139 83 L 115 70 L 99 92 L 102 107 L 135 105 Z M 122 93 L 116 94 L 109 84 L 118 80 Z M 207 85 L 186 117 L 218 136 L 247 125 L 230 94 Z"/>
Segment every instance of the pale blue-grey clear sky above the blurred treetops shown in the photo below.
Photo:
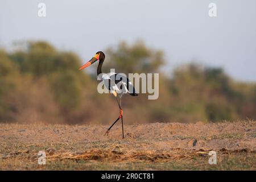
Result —
<path fill-rule="evenodd" d="M 40 2 L 46 4 L 44 18 L 38 16 Z M 217 5 L 215 18 L 208 15 L 209 3 Z M 255 0 L 0 0 L 0 46 L 47 40 L 85 63 L 120 40 L 143 39 L 166 53 L 165 71 L 195 60 L 256 81 L 255 22 Z"/>

